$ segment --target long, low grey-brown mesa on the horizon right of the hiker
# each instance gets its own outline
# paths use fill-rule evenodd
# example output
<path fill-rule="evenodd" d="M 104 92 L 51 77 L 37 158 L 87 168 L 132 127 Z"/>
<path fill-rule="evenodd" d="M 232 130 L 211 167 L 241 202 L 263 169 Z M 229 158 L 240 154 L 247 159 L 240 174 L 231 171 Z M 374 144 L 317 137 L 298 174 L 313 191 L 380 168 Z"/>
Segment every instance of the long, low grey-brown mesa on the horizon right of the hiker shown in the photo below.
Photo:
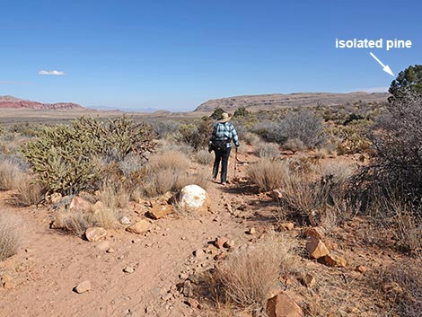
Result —
<path fill-rule="evenodd" d="M 209 112 L 216 108 L 226 111 L 234 111 L 241 107 L 248 110 L 277 110 L 291 107 L 309 107 L 309 106 L 330 106 L 340 105 L 355 101 L 387 101 L 390 96 L 388 92 L 297 92 L 290 94 L 258 94 L 228 97 L 222 99 L 210 100 L 202 103 L 194 111 Z"/>

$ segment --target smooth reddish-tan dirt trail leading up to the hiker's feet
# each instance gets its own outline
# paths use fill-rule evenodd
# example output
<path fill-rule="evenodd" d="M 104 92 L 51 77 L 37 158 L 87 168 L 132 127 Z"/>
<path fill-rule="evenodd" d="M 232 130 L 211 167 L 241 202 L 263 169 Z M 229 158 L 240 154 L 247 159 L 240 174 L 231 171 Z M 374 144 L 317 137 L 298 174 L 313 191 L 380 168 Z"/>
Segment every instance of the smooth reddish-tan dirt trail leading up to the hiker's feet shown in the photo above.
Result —
<path fill-rule="evenodd" d="M 109 233 L 114 253 L 104 250 L 105 242 L 86 242 L 49 229 L 45 208 L 11 208 L 1 201 L 2 210 L 22 216 L 26 233 L 18 254 L 0 263 L 0 273 L 11 274 L 15 284 L 10 290 L 0 288 L 0 316 L 189 315 L 186 305 L 166 307 L 162 296 L 179 282 L 192 251 L 219 235 L 244 235 L 245 225 L 223 207 L 235 194 L 223 194 L 222 189 L 216 183 L 208 189 L 213 214 L 160 219 L 147 236 Z M 135 271 L 124 273 L 127 266 Z M 84 280 L 91 281 L 92 290 L 73 292 Z"/>

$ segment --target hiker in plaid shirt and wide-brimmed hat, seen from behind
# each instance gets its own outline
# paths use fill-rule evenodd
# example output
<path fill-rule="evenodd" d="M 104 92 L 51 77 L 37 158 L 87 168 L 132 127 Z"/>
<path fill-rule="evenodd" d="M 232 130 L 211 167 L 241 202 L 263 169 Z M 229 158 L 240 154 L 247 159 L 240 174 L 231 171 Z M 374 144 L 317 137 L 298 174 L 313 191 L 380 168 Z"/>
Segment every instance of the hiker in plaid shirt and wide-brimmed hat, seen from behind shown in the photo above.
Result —
<path fill-rule="evenodd" d="M 215 161 L 213 167 L 213 180 L 216 180 L 221 161 L 221 184 L 227 182 L 227 163 L 229 162 L 230 152 L 232 150 L 232 140 L 236 145 L 236 151 L 239 147 L 239 137 L 233 124 L 229 122 L 230 116 L 223 112 L 221 118 L 215 122 L 213 134 L 209 139 L 208 152 L 214 151 Z"/>

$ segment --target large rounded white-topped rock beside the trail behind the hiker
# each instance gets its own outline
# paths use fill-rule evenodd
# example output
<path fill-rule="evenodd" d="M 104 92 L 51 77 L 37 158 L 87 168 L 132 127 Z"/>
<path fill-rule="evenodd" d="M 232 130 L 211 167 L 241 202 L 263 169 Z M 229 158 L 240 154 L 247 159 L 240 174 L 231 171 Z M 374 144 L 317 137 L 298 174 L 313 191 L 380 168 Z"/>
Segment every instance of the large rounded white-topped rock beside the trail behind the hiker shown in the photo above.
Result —
<path fill-rule="evenodd" d="M 210 205 L 207 191 L 198 185 L 188 185 L 181 189 L 179 206 L 186 212 L 204 215 Z"/>

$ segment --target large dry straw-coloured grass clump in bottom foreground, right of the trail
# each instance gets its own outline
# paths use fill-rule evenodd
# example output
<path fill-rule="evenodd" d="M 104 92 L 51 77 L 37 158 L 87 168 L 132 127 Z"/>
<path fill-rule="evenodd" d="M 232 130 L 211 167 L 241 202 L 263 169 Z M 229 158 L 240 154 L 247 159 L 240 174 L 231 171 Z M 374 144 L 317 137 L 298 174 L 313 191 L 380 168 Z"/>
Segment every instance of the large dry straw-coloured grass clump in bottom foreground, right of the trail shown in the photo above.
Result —
<path fill-rule="evenodd" d="M 276 235 L 233 252 L 207 279 L 215 304 L 232 303 L 250 311 L 262 310 L 278 277 L 295 271 L 295 254 Z"/>

